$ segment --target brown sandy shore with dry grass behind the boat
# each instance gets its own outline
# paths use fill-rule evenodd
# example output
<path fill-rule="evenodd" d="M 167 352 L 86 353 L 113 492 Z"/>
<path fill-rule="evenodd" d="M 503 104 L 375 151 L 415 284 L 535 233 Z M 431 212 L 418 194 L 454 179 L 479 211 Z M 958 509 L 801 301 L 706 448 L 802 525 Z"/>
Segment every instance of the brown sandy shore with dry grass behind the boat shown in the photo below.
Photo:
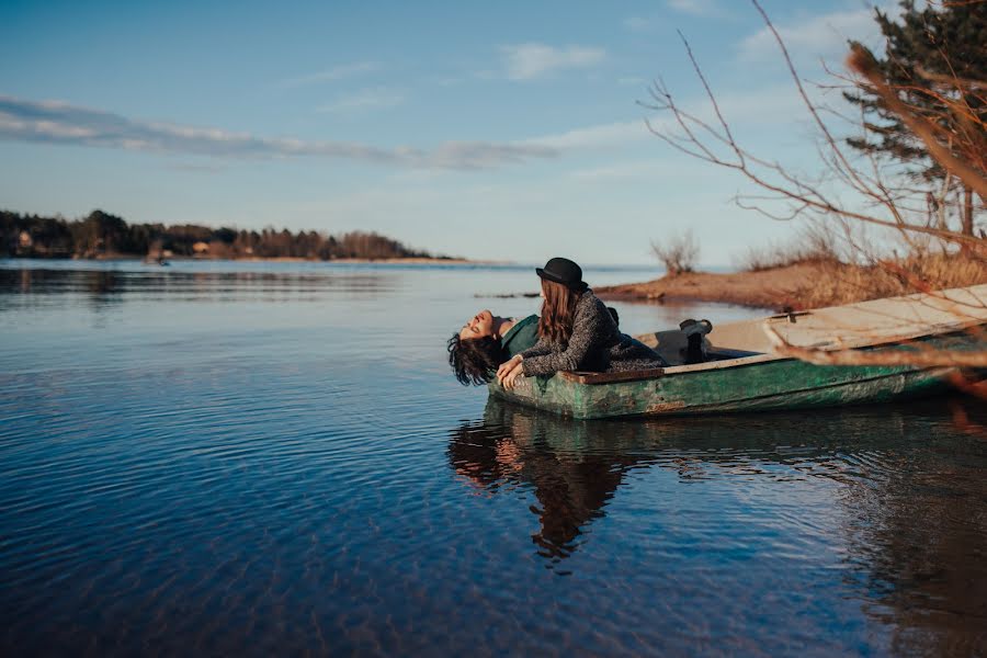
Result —
<path fill-rule="evenodd" d="M 594 287 L 593 292 L 602 299 L 717 302 L 771 310 L 798 309 L 797 292 L 818 281 L 819 275 L 817 265 L 799 263 L 762 272 L 692 272 L 644 283 Z"/>

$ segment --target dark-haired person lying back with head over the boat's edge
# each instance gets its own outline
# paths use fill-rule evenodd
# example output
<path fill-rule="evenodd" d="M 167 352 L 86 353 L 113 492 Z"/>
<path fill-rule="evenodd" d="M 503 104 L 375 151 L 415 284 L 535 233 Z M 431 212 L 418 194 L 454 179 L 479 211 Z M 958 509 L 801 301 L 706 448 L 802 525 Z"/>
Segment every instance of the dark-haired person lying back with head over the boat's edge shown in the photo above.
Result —
<path fill-rule="evenodd" d="M 614 324 L 616 309 L 606 307 Z M 633 340 L 633 339 L 632 339 Z M 481 386 L 494 379 L 498 366 L 538 342 L 538 316 L 518 320 L 481 310 L 449 339 L 449 364 L 463 386 Z M 635 341 L 636 342 L 636 341 Z"/>

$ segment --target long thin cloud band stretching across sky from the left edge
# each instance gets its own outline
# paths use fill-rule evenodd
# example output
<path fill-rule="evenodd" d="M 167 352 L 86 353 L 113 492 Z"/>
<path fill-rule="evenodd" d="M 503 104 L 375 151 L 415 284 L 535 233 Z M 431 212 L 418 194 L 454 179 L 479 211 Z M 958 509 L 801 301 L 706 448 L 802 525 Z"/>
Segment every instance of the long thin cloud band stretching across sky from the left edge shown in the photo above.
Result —
<path fill-rule="evenodd" d="M 805 118 L 790 84 L 718 95 L 731 125 L 779 125 Z M 683 105 L 713 121 L 705 98 Z M 655 129 L 674 129 L 668 115 L 651 121 Z M 27 101 L 0 95 L 0 139 L 117 148 L 134 151 L 211 156 L 225 159 L 336 158 L 378 163 L 404 170 L 492 169 L 535 160 L 557 159 L 586 151 L 606 151 L 647 144 L 644 118 L 589 125 L 526 139 L 450 140 L 432 148 L 378 147 L 352 141 L 260 137 L 158 122 L 132 120 L 101 110 L 60 102 Z"/>

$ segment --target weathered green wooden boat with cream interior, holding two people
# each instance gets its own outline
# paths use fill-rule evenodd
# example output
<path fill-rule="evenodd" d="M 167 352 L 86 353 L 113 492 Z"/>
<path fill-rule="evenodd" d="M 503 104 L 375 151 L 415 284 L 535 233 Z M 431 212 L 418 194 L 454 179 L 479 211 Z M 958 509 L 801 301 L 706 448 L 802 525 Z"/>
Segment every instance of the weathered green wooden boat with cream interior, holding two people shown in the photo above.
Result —
<path fill-rule="evenodd" d="M 796 348 L 826 351 L 987 350 L 987 285 L 716 326 L 707 337 L 710 361 L 693 365 L 681 365 L 681 331 L 648 333 L 638 340 L 671 365 L 519 377 L 512 390 L 494 382 L 489 392 L 577 419 L 719 413 L 923 396 L 948 388 L 958 372 L 950 365 L 816 365 L 776 353 L 770 333 Z"/>

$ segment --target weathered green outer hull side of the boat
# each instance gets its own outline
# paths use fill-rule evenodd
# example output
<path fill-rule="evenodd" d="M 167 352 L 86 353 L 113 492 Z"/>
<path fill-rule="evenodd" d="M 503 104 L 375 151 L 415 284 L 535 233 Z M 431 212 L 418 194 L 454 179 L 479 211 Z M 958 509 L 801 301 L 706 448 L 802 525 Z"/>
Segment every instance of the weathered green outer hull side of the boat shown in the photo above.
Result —
<path fill-rule="evenodd" d="M 937 350 L 983 349 L 965 332 L 928 337 Z M 877 350 L 916 349 L 882 345 Z M 676 370 L 676 368 L 669 368 Z M 833 407 L 921 397 L 946 389 L 955 367 L 814 365 L 795 359 L 755 356 L 707 370 L 666 372 L 628 382 L 586 384 L 574 377 L 522 377 L 513 390 L 490 394 L 577 419 L 684 416 Z M 983 373 L 978 373 L 982 376 Z"/>

